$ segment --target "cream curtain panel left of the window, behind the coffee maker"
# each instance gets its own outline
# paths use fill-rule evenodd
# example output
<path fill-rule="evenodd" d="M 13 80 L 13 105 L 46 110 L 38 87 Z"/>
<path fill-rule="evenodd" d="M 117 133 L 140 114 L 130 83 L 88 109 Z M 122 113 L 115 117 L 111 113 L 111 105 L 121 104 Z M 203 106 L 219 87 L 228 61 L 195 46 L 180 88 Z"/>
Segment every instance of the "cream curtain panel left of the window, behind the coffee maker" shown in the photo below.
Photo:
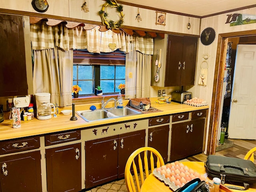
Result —
<path fill-rule="evenodd" d="M 34 94 L 48 92 L 51 103 L 72 104 L 73 50 L 60 48 L 34 50 Z"/>

